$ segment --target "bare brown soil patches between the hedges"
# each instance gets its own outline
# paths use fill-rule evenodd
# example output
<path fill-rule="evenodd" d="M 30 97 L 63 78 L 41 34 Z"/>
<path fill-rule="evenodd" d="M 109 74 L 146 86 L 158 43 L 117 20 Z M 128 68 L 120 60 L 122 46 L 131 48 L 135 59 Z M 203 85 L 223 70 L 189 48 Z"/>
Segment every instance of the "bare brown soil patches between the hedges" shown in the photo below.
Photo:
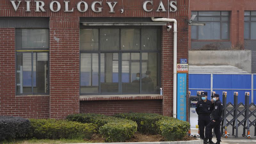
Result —
<path fill-rule="evenodd" d="M 197 140 L 197 139 L 194 137 L 185 136 L 185 138 L 182 140 Z M 182 140 L 179 140 L 179 141 L 182 141 Z M 92 136 L 92 140 L 86 140 L 86 141 L 93 142 L 93 143 L 101 143 L 101 142 L 104 142 L 104 139 L 100 135 L 95 134 Z M 136 132 L 131 139 L 126 140 L 125 142 L 159 142 L 159 141 L 164 141 L 164 137 L 162 135 L 142 134 L 142 133 Z"/>

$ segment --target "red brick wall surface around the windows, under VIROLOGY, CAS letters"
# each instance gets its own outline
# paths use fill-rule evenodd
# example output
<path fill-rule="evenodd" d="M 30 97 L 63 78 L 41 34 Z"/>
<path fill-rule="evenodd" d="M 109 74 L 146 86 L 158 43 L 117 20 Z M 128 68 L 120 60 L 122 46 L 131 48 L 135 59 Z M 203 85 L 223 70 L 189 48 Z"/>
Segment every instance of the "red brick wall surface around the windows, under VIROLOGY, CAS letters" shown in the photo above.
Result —
<path fill-rule="evenodd" d="M 57 0 L 58 1 L 58 0 Z M 168 12 L 156 12 L 160 0 L 154 0 L 151 12 L 142 9 L 144 0 L 122 1 L 117 0 L 115 13 L 106 1 L 102 3 L 102 12 L 95 13 L 90 6 L 94 0 L 86 0 L 89 8 L 82 13 L 77 11 L 76 4 L 80 0 L 70 1 L 69 8 L 74 12 L 63 12 L 65 5 L 59 1 L 61 9 L 52 12 L 49 9 L 51 0 L 45 0 L 46 12 L 35 12 L 35 2 L 31 1 L 31 12 L 26 12 L 26 2 L 22 1 L 17 12 L 14 11 L 9 0 L 0 0 L 0 17 L 49 17 L 50 18 L 50 96 L 15 96 L 15 40 L 14 28 L 9 33 L 0 33 L 0 115 L 19 115 L 28 118 L 57 118 L 63 119 L 68 114 L 87 112 L 87 104 L 105 105 L 104 108 L 121 108 L 118 103 L 126 105 L 128 112 L 134 110 L 131 106 L 140 107 L 138 112 L 156 112 L 172 116 L 172 85 L 173 85 L 173 32 L 166 31 L 163 26 L 162 34 L 162 61 L 161 84 L 163 87 L 163 100 L 106 100 L 106 101 L 80 101 L 79 103 L 79 17 L 163 17 L 168 18 Z M 124 6 L 122 5 L 124 2 Z M 167 10 L 167 1 L 163 1 Z M 17 3 L 16 3 L 17 4 Z M 55 6 L 54 6 L 55 7 Z M 170 18 L 178 21 L 178 56 L 188 58 L 188 0 L 177 0 L 177 12 L 169 12 Z M 124 13 L 120 9 L 124 8 Z M 4 39 L 3 37 L 4 36 Z M 6 41 L 7 39 L 10 41 Z M 7 83 L 8 82 L 8 83 Z M 109 104 L 116 103 L 116 104 Z M 80 106 L 79 106 L 80 104 Z M 120 105 L 119 104 L 119 105 Z M 150 106 L 150 104 L 152 104 Z M 24 108 L 26 106 L 26 108 Z M 80 107 L 80 108 L 79 108 Z M 89 107 L 89 105 L 88 105 Z M 95 112 L 100 112 L 94 107 Z M 90 110 L 91 111 L 91 110 Z M 116 111 L 117 110 L 113 110 Z M 107 112 L 107 111 L 106 111 Z"/>

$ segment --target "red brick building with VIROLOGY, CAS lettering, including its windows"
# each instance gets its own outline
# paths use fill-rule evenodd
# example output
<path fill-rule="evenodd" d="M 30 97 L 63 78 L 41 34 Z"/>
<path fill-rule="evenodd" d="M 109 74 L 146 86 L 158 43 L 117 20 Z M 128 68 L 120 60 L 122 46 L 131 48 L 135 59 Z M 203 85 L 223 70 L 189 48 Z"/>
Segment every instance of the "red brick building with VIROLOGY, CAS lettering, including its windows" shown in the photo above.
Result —
<path fill-rule="evenodd" d="M 188 5 L 0 0 L 0 115 L 172 116 L 173 30 L 151 17 L 177 20 L 179 61 L 188 58 Z"/>

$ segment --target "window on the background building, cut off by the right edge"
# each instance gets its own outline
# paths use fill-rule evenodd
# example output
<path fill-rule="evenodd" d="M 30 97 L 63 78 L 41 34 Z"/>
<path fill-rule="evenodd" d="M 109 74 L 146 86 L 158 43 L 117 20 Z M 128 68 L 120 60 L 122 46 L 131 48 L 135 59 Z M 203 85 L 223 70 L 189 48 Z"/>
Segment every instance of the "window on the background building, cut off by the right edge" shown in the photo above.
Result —
<path fill-rule="evenodd" d="M 256 11 L 244 11 L 244 39 L 256 40 Z"/>

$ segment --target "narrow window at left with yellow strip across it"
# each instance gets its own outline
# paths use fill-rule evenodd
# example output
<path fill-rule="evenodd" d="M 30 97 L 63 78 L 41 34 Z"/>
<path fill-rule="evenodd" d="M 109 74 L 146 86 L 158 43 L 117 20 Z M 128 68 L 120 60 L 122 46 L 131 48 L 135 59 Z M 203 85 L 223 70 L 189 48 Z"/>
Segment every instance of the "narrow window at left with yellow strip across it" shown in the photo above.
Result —
<path fill-rule="evenodd" d="M 49 30 L 16 29 L 16 94 L 49 93 Z"/>

